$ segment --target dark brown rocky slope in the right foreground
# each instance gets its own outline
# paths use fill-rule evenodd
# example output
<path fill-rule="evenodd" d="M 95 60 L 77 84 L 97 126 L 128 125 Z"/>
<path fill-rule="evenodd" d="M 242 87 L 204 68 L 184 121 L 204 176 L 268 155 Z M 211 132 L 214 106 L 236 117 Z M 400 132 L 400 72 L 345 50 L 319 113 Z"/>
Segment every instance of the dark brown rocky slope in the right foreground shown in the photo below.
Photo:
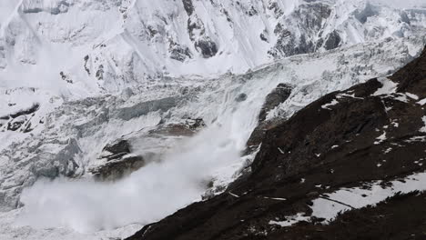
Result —
<path fill-rule="evenodd" d="M 392 83 L 397 87 L 386 87 Z M 424 172 L 424 98 L 426 50 L 390 80 L 325 95 L 269 129 L 244 181 L 128 239 L 426 239 L 424 193 L 354 209 L 329 225 L 316 217 L 287 227 L 269 223 L 309 216 L 314 199 L 342 187 L 369 188 L 376 180 L 385 187 Z"/>

